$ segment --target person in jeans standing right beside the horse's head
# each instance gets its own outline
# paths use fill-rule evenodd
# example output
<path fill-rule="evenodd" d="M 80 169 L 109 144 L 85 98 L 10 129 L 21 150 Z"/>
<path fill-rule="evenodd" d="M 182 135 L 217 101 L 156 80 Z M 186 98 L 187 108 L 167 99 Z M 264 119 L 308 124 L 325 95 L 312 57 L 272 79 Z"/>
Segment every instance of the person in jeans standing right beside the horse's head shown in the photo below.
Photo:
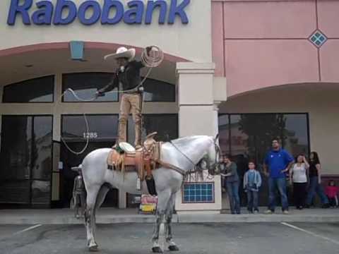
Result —
<path fill-rule="evenodd" d="M 225 183 L 227 193 L 230 198 L 230 207 L 232 214 L 240 214 L 240 200 L 239 200 L 239 176 L 237 172 L 237 164 L 231 161 L 230 155 L 225 155 L 223 159 L 225 165 Z"/>

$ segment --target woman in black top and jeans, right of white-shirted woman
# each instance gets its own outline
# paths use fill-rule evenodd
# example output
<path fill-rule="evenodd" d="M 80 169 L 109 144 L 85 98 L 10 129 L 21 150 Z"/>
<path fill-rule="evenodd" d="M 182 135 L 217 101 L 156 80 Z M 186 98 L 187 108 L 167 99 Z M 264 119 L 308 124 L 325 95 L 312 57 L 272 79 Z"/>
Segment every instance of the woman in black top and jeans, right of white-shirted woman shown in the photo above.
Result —
<path fill-rule="evenodd" d="M 323 186 L 321 186 L 321 164 L 318 153 L 311 152 L 311 155 L 309 156 L 309 191 L 307 193 L 305 207 L 309 208 L 316 193 L 321 199 L 322 207 L 330 207 L 328 198 L 323 192 Z"/>

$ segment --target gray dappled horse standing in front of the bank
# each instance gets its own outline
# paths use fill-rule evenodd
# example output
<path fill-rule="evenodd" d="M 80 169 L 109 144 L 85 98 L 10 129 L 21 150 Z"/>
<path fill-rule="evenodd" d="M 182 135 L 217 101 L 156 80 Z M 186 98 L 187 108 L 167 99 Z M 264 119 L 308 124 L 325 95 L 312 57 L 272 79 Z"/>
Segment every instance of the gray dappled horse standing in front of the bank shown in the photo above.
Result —
<path fill-rule="evenodd" d="M 141 191 L 136 191 L 136 172 L 121 173 L 107 169 L 107 156 L 110 148 L 102 148 L 90 152 L 83 163 L 83 181 L 87 191 L 85 227 L 87 231 L 88 248 L 97 250 L 95 242 L 95 210 L 105 200 L 109 186 L 118 188 L 132 194 L 148 193 L 145 181 Z M 174 209 L 175 195 L 182 186 L 186 174 L 196 171 L 196 164 L 202 160 L 206 162 L 208 172 L 215 174 L 219 164 L 220 147 L 216 138 L 199 135 L 187 138 L 179 138 L 172 142 L 163 143 L 161 147 L 161 161 L 182 169 L 182 172 L 170 168 L 160 167 L 153 171 L 155 188 L 157 191 L 157 213 L 153 234 L 153 252 L 162 253 L 159 245 L 160 224 L 165 218 L 166 242 L 169 250 L 179 250 L 172 240 L 172 213 Z"/>

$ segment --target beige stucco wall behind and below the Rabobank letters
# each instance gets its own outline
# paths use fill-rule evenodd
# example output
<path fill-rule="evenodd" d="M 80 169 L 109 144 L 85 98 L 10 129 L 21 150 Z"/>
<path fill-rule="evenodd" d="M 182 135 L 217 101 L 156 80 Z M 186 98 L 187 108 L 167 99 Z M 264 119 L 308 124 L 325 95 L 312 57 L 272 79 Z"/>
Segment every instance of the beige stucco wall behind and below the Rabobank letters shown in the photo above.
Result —
<path fill-rule="evenodd" d="M 121 1 L 125 4 L 128 2 L 128 0 Z M 166 1 L 170 2 L 170 0 Z M 73 0 L 73 2 L 79 4 L 82 1 Z M 97 0 L 97 2 L 102 6 L 104 0 Z M 59 26 L 23 25 L 18 15 L 16 25 L 9 26 L 7 17 L 10 3 L 9 0 L 0 1 L 0 50 L 29 44 L 82 40 L 126 44 L 134 47 L 156 44 L 167 54 L 180 56 L 189 61 L 211 61 L 210 0 L 191 1 L 185 8 L 189 18 L 187 25 L 183 25 L 179 18 L 173 25 L 159 25 L 158 11 L 155 11 L 151 25 L 127 25 L 123 22 L 117 25 L 101 25 L 98 21 L 95 25 L 86 26 L 78 20 L 69 25 Z M 33 4 L 30 13 L 35 9 L 36 6 Z"/>

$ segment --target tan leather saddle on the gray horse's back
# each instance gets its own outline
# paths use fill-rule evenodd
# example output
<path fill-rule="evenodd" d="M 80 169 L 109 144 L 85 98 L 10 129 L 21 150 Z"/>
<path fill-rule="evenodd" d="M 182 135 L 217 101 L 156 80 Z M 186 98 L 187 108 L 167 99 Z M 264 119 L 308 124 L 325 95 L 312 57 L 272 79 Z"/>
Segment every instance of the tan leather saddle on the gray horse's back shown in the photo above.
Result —
<path fill-rule="evenodd" d="M 138 173 L 141 181 L 152 178 L 152 170 L 159 166 L 161 143 L 156 142 L 154 137 L 157 133 L 151 133 L 145 138 L 143 147 L 135 152 L 121 152 L 112 149 L 107 158 L 109 169 L 121 172 Z"/>

